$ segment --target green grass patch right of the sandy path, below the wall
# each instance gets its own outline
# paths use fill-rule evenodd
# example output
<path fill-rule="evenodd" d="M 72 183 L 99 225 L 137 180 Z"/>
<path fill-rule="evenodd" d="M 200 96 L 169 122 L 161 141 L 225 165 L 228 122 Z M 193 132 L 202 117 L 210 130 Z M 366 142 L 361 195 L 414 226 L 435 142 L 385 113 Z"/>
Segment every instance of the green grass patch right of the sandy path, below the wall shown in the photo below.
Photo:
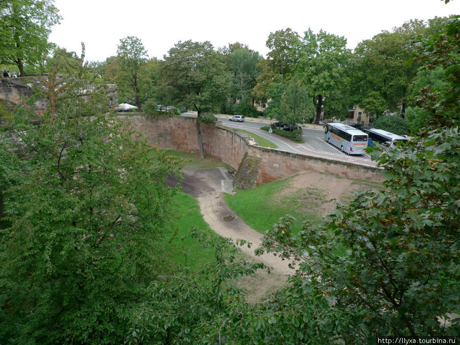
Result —
<path fill-rule="evenodd" d="M 304 188 L 283 193 L 288 186 L 289 178 L 259 185 L 256 189 L 240 190 L 234 195 L 225 194 L 224 198 L 246 224 L 261 234 L 286 214 L 295 218 L 294 234 L 301 230 L 305 220 L 319 224 L 322 218 L 314 211 L 308 212 L 308 209 L 316 208 L 321 201 L 321 191 Z"/>

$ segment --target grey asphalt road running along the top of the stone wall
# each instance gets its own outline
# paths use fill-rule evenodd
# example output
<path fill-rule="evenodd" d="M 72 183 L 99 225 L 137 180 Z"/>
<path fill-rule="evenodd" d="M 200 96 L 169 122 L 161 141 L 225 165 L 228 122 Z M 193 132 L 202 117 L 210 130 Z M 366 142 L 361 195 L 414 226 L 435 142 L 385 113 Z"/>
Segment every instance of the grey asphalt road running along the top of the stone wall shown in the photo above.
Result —
<path fill-rule="evenodd" d="M 183 113 L 183 116 L 196 117 L 196 114 Z M 246 119 L 245 122 L 233 122 L 228 121 L 228 117 L 221 116 L 218 116 L 217 119 L 221 121 L 225 127 L 242 129 L 257 134 L 273 144 L 276 144 L 279 150 L 341 160 L 342 162 L 351 162 L 371 167 L 376 166 L 376 163 L 371 160 L 369 155 L 348 155 L 347 153 L 341 152 L 340 149 L 335 146 L 326 143 L 323 139 L 323 126 L 311 125 L 316 128 L 302 127 L 302 137 L 305 143 L 297 144 L 284 136 L 268 133 L 267 131 L 260 129 L 262 126 L 268 125 L 268 120 L 252 121 Z"/>

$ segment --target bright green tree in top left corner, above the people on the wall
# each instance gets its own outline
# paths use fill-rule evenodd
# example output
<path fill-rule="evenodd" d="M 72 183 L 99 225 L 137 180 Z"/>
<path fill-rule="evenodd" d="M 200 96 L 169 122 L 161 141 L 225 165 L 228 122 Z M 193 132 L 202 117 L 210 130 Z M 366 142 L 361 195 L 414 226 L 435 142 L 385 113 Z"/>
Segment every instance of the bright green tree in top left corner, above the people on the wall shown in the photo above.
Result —
<path fill-rule="evenodd" d="M 51 27 L 62 19 L 54 0 L 13 0 L 0 3 L 0 63 L 14 63 L 24 77 L 24 64 L 36 64 L 51 43 Z"/>

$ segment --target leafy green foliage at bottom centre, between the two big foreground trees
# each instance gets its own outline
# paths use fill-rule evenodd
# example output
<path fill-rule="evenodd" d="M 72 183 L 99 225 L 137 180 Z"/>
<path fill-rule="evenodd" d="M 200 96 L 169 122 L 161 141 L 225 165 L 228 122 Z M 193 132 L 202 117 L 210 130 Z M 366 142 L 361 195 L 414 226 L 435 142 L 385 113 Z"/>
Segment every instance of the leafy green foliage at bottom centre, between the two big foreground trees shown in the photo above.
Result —
<path fill-rule="evenodd" d="M 199 276 L 160 275 L 149 287 L 151 299 L 133 315 L 128 343 L 216 343 L 243 341 L 238 326 L 251 307 L 236 279 L 253 274 L 263 264 L 237 259 L 242 240 L 210 236 L 194 228 L 192 235 L 215 251 L 214 261 Z M 235 336 L 237 334 L 237 336 Z"/>

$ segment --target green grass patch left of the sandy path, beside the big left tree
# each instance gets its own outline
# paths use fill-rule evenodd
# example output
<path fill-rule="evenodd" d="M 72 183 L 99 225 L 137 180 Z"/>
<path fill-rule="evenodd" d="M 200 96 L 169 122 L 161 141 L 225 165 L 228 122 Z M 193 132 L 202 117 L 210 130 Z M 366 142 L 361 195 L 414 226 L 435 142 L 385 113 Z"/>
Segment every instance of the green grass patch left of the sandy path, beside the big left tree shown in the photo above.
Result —
<path fill-rule="evenodd" d="M 203 219 L 198 202 L 189 194 L 179 193 L 174 197 L 177 210 L 167 232 L 164 245 L 168 247 L 172 260 L 181 268 L 188 267 L 197 272 L 214 258 L 212 249 L 205 249 L 190 236 L 192 226 L 216 235 Z"/>

